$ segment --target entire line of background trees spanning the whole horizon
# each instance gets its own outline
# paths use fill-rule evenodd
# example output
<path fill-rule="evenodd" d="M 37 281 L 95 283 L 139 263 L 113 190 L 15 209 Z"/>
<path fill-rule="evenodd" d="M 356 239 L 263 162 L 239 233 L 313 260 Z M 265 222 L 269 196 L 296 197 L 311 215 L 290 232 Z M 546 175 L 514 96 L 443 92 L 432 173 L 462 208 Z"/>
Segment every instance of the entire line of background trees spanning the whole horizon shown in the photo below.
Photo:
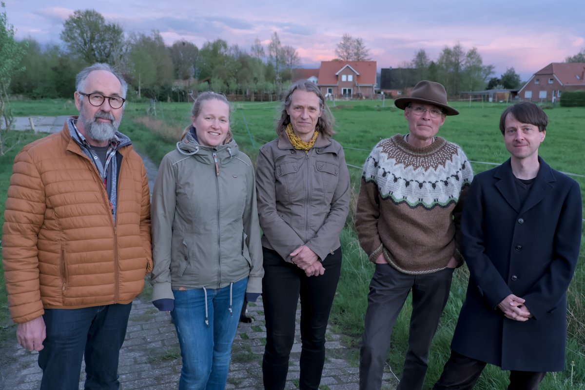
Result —
<path fill-rule="evenodd" d="M 280 95 L 291 81 L 292 70 L 301 66 L 297 50 L 283 45 L 277 32 L 267 45 L 256 38 L 249 50 L 229 45 L 223 39 L 205 42 L 201 47 L 187 40 L 166 46 L 157 30 L 150 34 L 126 34 L 120 25 L 88 9 L 75 11 L 63 23 L 60 34 L 63 45 L 42 46 L 32 38 L 14 40 L 4 8 L 2 18 L 0 95 L 5 97 L 71 97 L 75 74 L 98 61 L 122 70 L 132 87 L 130 99 L 185 101 L 191 91 L 205 90 L 251 97 Z M 371 60 L 363 39 L 349 34 L 343 35 L 335 54 L 335 60 L 340 61 Z M 585 61 L 585 49 L 565 61 Z M 419 80 L 438 81 L 450 95 L 521 86 L 513 67 L 500 77 L 492 77 L 494 66 L 484 64 L 475 47 L 464 50 L 459 43 L 445 46 L 435 60 L 420 49 L 411 61 L 399 64 L 396 71 L 404 90 Z"/>

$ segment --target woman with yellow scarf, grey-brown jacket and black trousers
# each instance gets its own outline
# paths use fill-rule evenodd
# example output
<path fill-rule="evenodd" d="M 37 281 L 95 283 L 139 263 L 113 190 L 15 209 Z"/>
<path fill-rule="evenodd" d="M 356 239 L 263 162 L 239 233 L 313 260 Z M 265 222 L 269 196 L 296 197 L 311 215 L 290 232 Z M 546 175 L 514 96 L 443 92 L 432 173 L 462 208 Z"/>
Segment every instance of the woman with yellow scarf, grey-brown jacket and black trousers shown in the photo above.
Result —
<path fill-rule="evenodd" d="M 266 272 L 264 388 L 284 389 L 300 296 L 299 388 L 318 389 L 341 269 L 339 233 L 349 211 L 349 172 L 343 148 L 331 139 L 333 117 L 314 83 L 291 85 L 276 132 L 278 138 L 260 148 L 256 163 Z"/>

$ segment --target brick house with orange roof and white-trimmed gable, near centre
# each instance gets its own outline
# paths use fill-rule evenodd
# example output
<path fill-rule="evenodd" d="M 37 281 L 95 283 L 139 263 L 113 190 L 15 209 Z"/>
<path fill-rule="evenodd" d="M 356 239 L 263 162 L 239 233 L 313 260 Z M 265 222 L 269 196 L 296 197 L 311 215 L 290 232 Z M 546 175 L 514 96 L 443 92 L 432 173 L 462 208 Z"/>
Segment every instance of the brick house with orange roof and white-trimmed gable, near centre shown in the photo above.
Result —
<path fill-rule="evenodd" d="M 373 98 L 376 61 L 321 61 L 317 85 L 327 98 Z"/>

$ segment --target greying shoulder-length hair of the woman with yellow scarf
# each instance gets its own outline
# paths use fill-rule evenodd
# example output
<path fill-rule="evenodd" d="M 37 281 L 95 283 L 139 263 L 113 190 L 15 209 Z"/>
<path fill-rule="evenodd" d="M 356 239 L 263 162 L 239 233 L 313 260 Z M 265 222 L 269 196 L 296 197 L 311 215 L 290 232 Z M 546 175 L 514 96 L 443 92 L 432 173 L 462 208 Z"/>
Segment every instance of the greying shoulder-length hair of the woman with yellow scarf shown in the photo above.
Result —
<path fill-rule="evenodd" d="M 329 107 L 325 105 L 325 97 L 319 90 L 319 87 L 315 83 L 312 83 L 309 80 L 299 80 L 296 83 L 292 84 L 287 91 L 286 97 L 284 98 L 283 104 L 281 105 L 280 111 L 280 118 L 276 122 L 276 133 L 280 134 L 284 132 L 287 128 L 287 125 L 290 124 L 291 118 L 288 115 L 288 108 L 291 105 L 291 96 L 292 93 L 296 90 L 312 92 L 319 98 L 319 109 L 321 110 L 321 117 L 317 119 L 316 130 L 318 130 L 321 134 L 325 137 L 329 138 L 335 131 L 333 131 L 333 124 L 335 124 L 335 119 L 329 111 Z"/>

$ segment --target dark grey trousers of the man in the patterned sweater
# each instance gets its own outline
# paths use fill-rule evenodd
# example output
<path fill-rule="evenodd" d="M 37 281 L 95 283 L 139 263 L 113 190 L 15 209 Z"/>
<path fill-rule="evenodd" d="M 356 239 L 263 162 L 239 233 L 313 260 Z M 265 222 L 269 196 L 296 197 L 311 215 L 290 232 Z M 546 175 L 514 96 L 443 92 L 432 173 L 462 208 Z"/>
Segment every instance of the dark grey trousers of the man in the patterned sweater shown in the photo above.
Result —
<path fill-rule="evenodd" d="M 428 367 L 429 348 L 439 317 L 449 298 L 453 269 L 423 275 L 376 264 L 370 282 L 366 320 L 360 348 L 360 390 L 380 390 L 384 362 L 394 323 L 412 291 L 408 351 L 397 390 L 420 390 Z"/>

